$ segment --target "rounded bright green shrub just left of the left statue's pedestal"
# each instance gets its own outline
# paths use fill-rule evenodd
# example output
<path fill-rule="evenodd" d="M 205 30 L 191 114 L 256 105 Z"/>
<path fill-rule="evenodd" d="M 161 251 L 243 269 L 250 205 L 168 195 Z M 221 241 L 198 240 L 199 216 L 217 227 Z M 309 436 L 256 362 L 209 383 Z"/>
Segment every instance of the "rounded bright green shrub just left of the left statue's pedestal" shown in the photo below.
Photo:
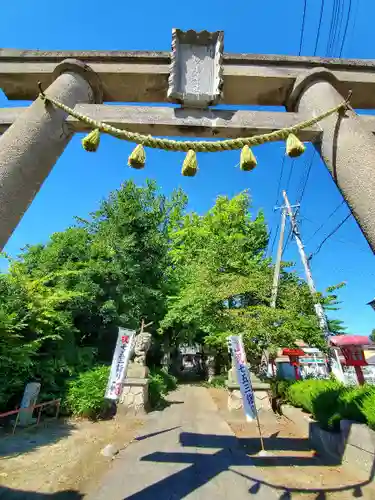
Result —
<path fill-rule="evenodd" d="M 104 399 L 109 366 L 97 366 L 81 373 L 69 383 L 66 406 L 74 416 L 100 418 L 111 403 Z"/>

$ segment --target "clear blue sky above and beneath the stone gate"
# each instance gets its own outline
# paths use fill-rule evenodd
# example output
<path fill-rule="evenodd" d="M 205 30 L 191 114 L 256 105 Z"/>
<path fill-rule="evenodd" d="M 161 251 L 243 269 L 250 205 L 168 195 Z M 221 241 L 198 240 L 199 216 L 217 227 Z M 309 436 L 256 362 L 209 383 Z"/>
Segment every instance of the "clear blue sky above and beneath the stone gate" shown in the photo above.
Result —
<path fill-rule="evenodd" d="M 333 55 L 339 55 L 349 3 L 350 0 L 344 1 L 341 32 L 333 47 L 327 47 L 333 0 L 325 0 L 316 55 L 326 55 L 327 48 Z M 342 56 L 375 59 L 375 32 L 371 21 L 375 18 L 375 2 L 352 0 L 351 4 Z M 90 0 L 66 1 L 63 7 L 56 3 L 55 9 L 51 1 L 35 4 L 18 0 L 1 6 L 0 46 L 43 50 L 169 50 L 171 29 L 178 27 L 224 30 L 226 52 L 298 55 L 303 6 L 303 0 L 190 0 L 184 3 L 144 0 L 142 4 L 103 4 Z M 302 55 L 314 55 L 319 15 L 320 1 L 308 0 Z M 7 101 L 0 92 L 0 106 L 12 105 L 20 103 Z M 80 146 L 80 139 L 77 135 L 71 141 L 8 242 L 5 250 L 11 255 L 17 255 L 26 243 L 46 241 L 51 233 L 65 229 L 72 224 L 74 215 L 85 217 L 111 190 L 130 178 L 137 183 L 154 178 L 166 193 L 181 186 L 189 195 L 189 208 L 199 213 L 206 211 L 219 194 L 233 196 L 249 189 L 254 212 L 263 208 L 270 228 L 276 229 L 279 214 L 273 207 L 283 156 L 280 143 L 255 150 L 258 167 L 252 173 L 235 167 L 236 152 L 200 154 L 199 175 L 190 179 L 180 175 L 183 161 L 180 153 L 147 151 L 147 168 L 135 172 L 126 166 L 131 145 L 104 137 L 99 151 L 87 154 Z M 288 188 L 292 203 L 300 195 L 312 151 L 312 147 L 308 147 L 305 156 L 284 162 L 281 187 L 287 186 L 292 169 Z M 326 167 L 318 155 L 314 155 L 300 210 L 301 233 L 308 254 L 316 250 L 348 213 L 344 204 L 327 220 L 341 200 Z M 313 236 L 324 221 L 324 227 Z M 274 253 L 275 250 L 276 244 Z M 294 242 L 287 246 L 284 259 L 294 261 L 296 270 L 303 275 Z M 311 264 L 319 289 L 347 282 L 340 293 L 343 303 L 337 316 L 348 326 L 348 331 L 369 334 L 375 328 L 375 313 L 366 305 L 375 296 L 374 257 L 352 218 L 327 241 Z"/>

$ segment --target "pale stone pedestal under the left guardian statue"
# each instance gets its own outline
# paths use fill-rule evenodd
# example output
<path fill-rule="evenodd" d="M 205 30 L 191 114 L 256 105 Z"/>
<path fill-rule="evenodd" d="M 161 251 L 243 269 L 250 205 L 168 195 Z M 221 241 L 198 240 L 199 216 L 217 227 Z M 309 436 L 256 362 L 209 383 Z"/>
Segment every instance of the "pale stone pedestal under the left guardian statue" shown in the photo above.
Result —
<path fill-rule="evenodd" d="M 139 415 L 148 407 L 148 368 L 131 363 L 123 383 L 118 411 L 123 414 Z"/>

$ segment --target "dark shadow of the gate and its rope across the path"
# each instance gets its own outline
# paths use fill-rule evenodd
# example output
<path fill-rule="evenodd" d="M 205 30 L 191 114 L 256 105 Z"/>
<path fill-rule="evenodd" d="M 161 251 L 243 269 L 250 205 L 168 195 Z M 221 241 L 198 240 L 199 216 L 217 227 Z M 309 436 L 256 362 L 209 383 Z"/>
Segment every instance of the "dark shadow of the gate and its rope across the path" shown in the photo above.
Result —
<path fill-rule="evenodd" d="M 294 438 L 265 438 L 265 448 L 269 451 L 284 450 L 284 451 L 306 451 L 310 450 L 307 439 Z M 348 484 L 336 488 L 289 488 L 287 485 L 273 484 L 270 481 L 265 481 L 261 477 L 247 475 L 242 472 L 231 469 L 233 466 L 249 466 L 252 467 L 277 467 L 277 466 L 316 466 L 316 465 L 339 465 L 340 461 L 324 461 L 317 462 L 316 457 L 301 457 L 301 456 L 251 456 L 249 457 L 244 449 L 257 448 L 259 440 L 237 439 L 234 436 L 217 436 L 210 434 L 196 434 L 182 432 L 180 434 L 180 444 L 182 446 L 191 446 L 196 448 L 213 448 L 219 449 L 213 454 L 207 453 L 191 453 L 191 452 L 155 452 L 141 458 L 141 461 L 159 462 L 159 463 L 177 463 L 190 464 L 181 471 L 178 471 L 146 488 L 127 496 L 124 500 L 154 500 L 155 498 L 176 498 L 182 499 L 197 490 L 204 484 L 208 483 L 215 476 L 225 471 L 231 471 L 244 479 L 249 480 L 252 484 L 249 485 L 249 494 L 256 495 L 262 492 L 262 487 L 272 488 L 275 493 L 279 493 L 280 500 L 288 500 L 292 493 L 299 494 L 316 494 L 316 500 L 325 500 L 329 493 L 340 493 L 344 491 L 352 491 L 353 497 L 362 497 L 362 488 L 370 484 L 375 476 L 375 462 L 372 466 L 370 477 L 366 481 L 355 484 Z M 259 448 L 258 448 L 259 449 Z M 173 497 L 171 496 L 173 495 Z"/>

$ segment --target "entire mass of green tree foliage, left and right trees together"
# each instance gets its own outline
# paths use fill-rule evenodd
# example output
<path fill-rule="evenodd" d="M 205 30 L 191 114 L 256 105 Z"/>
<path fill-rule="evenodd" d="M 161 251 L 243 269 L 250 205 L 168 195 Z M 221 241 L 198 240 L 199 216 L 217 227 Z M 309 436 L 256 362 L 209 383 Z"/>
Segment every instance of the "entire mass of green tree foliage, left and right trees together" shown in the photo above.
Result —
<path fill-rule="evenodd" d="M 255 358 L 297 338 L 321 343 L 308 288 L 286 263 L 269 307 L 268 231 L 262 213 L 250 216 L 248 193 L 219 197 L 203 216 L 184 214 L 186 203 L 179 190 L 126 182 L 87 220 L 10 261 L 0 275 L 0 410 L 19 404 L 30 380 L 43 399 L 61 397 L 68 379 L 110 362 L 118 326 L 142 318 L 172 344 L 218 352 L 242 333 Z M 333 291 L 318 299 L 336 307 Z"/>

